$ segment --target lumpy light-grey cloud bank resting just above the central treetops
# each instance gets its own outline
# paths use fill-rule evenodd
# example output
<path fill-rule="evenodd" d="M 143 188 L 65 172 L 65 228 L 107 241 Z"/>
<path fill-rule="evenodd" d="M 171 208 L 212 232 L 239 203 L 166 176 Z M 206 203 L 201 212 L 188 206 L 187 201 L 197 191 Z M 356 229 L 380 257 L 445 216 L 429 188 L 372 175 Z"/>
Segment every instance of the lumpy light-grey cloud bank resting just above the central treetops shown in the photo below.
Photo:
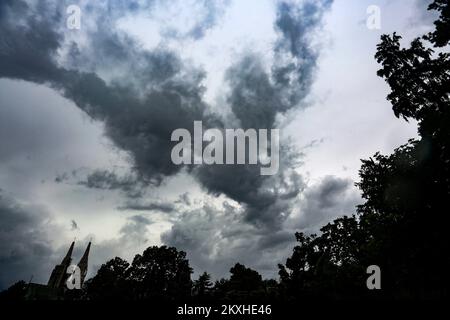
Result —
<path fill-rule="evenodd" d="M 225 202 L 222 208 L 204 204 L 183 212 L 161 240 L 185 250 L 196 272 L 208 270 L 220 277 L 241 262 L 276 278 L 275 266 L 292 252 L 295 232 L 317 233 L 324 223 L 352 214 L 360 200 L 350 180 L 328 176 L 308 187 L 301 200 L 290 202 L 299 215 L 281 230 L 244 224 L 243 210 Z"/>

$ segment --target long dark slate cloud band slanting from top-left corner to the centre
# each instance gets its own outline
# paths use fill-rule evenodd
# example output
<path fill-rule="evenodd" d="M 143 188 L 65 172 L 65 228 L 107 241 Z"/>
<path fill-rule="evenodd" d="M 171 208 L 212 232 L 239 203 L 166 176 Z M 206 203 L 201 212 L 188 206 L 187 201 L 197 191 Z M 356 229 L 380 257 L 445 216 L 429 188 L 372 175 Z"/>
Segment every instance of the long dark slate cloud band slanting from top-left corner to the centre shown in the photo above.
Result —
<path fill-rule="evenodd" d="M 184 73 L 179 59 L 170 52 L 142 52 L 146 64 L 134 80 L 142 80 L 139 77 L 147 74 L 153 81 L 150 84 L 154 83 L 157 88 L 138 97 L 140 88 L 129 84 L 108 85 L 94 73 L 68 70 L 56 64 L 56 50 L 63 37 L 52 29 L 61 23 L 61 19 L 55 18 L 56 13 L 51 15 L 45 11 L 44 15 L 29 13 L 22 6 L 18 6 L 19 9 L 7 4 L 2 6 L 7 8 L 0 34 L 2 77 L 47 83 L 73 100 L 93 119 L 105 124 L 107 135 L 132 155 L 137 170 L 148 177 L 149 183 L 158 184 L 164 176 L 179 170 L 170 159 L 169 138 L 174 129 L 191 127 L 194 120 L 203 118 L 201 73 Z M 23 12 L 30 16 L 25 26 L 14 22 L 14 17 Z M 114 28 L 109 25 L 102 29 Z M 96 43 L 100 52 L 93 57 L 105 56 L 102 43 L 109 48 L 105 50 L 109 52 L 107 57 L 114 61 L 123 61 L 139 52 L 131 39 L 108 32 L 103 35 L 103 42 Z M 98 32 L 94 36 L 99 39 Z M 111 50 L 113 48 L 115 50 Z"/>

